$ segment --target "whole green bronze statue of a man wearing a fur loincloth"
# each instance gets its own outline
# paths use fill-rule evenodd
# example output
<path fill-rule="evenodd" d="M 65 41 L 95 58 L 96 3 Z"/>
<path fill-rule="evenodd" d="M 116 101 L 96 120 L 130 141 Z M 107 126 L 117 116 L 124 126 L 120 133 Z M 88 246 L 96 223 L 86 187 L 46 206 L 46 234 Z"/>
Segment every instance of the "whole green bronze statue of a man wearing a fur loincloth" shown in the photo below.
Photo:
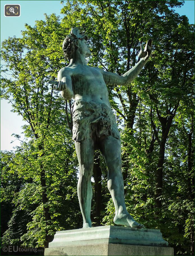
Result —
<path fill-rule="evenodd" d="M 87 40 L 88 36 L 82 35 L 79 28 L 72 28 L 63 42 L 63 51 L 70 64 L 59 70 L 59 82 L 49 82 L 54 84 L 54 89 L 61 91 L 65 99 L 75 100 L 72 108 L 73 140 L 79 161 L 77 192 L 83 228 L 91 227 L 91 177 L 95 149 L 100 149 L 108 167 L 107 186 L 116 210 L 114 223 L 144 228 L 126 209 L 121 173 L 120 133 L 109 103 L 106 85 L 128 85 L 134 80 L 150 58 L 152 39 L 148 40 L 145 49 L 141 45 L 138 55 L 140 61 L 122 76 L 86 65 L 85 59 L 91 56 Z"/>

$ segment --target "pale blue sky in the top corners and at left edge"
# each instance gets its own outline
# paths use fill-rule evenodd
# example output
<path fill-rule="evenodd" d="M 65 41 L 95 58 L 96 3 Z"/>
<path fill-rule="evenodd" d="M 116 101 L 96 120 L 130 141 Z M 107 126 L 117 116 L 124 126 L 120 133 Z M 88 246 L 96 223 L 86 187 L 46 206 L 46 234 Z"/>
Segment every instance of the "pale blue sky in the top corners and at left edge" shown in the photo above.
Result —
<path fill-rule="evenodd" d="M 27 23 L 30 26 L 34 26 L 35 20 L 44 19 L 44 13 L 48 15 L 56 13 L 60 15 L 62 8 L 61 1 L 59 0 L 23 0 L 23 1 L 0 1 L 0 19 L 1 19 L 1 42 L 7 39 L 8 36 L 20 37 L 21 30 L 24 30 L 24 24 Z M 176 8 L 175 11 L 179 15 L 186 15 L 189 19 L 189 23 L 194 24 L 194 2 L 185 1 L 181 8 Z M 4 17 L 4 5 L 5 4 L 20 4 L 21 14 L 20 17 Z M 21 126 L 25 124 L 17 113 L 11 112 L 12 107 L 6 100 L 1 100 L 1 150 L 12 150 L 13 146 L 20 145 L 19 141 L 15 141 L 10 144 L 14 138 L 12 133 L 20 134 L 22 132 Z M 22 136 L 21 136 L 22 138 Z"/>

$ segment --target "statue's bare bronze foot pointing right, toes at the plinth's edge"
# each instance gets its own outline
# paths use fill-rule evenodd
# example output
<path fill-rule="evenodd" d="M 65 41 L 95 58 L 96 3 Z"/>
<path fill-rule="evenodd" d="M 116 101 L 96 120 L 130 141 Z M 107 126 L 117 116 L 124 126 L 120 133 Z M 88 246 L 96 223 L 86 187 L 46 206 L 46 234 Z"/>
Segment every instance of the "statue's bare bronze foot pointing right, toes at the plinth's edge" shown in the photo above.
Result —
<path fill-rule="evenodd" d="M 144 225 L 137 223 L 129 213 L 116 215 L 114 217 L 114 223 L 131 228 L 144 228 Z"/>

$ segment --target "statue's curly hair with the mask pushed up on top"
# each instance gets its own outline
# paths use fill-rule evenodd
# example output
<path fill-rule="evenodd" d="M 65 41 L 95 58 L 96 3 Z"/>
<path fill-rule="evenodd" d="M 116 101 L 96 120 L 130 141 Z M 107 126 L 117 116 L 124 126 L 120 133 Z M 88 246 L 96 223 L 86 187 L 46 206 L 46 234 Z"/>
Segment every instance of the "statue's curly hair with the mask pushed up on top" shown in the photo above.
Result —
<path fill-rule="evenodd" d="M 62 44 L 62 49 L 66 59 L 72 59 L 75 52 L 75 47 L 77 47 L 78 42 L 81 39 L 85 39 L 87 41 L 89 38 L 88 35 L 83 35 L 79 28 L 72 28 L 70 34 L 66 36 Z"/>

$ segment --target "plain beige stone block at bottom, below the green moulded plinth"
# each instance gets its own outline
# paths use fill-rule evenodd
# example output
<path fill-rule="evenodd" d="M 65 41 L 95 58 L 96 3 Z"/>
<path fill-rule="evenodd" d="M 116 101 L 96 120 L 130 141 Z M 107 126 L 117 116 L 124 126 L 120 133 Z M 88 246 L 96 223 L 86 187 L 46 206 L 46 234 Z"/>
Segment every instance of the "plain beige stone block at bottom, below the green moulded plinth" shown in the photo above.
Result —
<path fill-rule="evenodd" d="M 80 246 L 51 247 L 45 249 L 45 256 L 96 256 L 96 255 L 123 255 L 123 256 L 172 256 L 173 248 L 160 246 L 144 246 L 129 244 L 94 244 Z"/>

